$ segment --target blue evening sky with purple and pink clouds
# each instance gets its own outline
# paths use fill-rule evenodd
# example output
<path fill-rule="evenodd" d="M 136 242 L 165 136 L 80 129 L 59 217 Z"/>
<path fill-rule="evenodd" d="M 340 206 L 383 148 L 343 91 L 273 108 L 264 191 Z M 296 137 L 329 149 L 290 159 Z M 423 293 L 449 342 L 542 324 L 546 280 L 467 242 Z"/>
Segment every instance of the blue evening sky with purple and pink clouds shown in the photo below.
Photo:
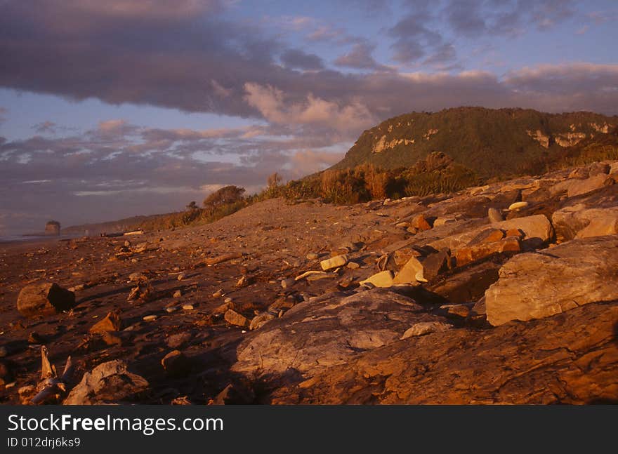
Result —
<path fill-rule="evenodd" d="M 618 2 L 0 0 L 0 236 L 180 211 L 407 112 L 618 114 Z"/>

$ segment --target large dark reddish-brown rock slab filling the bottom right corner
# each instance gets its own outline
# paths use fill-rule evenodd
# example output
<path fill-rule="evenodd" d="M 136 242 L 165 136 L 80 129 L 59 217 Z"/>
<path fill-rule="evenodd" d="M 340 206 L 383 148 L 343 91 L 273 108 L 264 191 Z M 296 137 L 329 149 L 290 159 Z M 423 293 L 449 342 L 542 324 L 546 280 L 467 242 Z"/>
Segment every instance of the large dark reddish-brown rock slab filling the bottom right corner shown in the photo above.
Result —
<path fill-rule="evenodd" d="M 279 387 L 271 404 L 586 404 L 616 399 L 618 302 L 393 342 Z"/>

